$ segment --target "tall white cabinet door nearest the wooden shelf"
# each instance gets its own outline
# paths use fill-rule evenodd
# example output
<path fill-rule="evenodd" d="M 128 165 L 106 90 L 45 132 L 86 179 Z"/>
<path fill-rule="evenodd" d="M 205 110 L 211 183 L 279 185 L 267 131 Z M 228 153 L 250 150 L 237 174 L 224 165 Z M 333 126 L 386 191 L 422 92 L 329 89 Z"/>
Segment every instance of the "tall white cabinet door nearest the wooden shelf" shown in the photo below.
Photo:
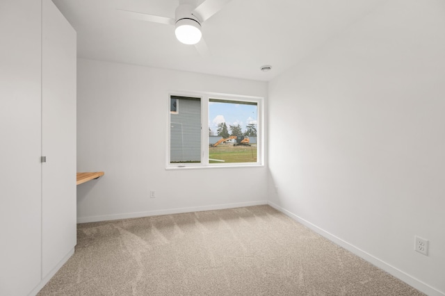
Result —
<path fill-rule="evenodd" d="M 42 0 L 42 277 L 76 245 L 76 32 Z"/>

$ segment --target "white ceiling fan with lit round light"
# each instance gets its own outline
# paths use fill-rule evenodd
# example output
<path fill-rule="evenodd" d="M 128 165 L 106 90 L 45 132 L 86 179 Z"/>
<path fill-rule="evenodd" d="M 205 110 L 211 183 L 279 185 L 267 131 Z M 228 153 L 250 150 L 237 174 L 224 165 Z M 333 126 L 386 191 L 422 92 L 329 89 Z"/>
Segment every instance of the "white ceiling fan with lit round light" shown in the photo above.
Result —
<path fill-rule="evenodd" d="M 197 5 L 197 0 L 179 0 L 179 6 L 175 10 L 175 19 L 119 8 L 118 10 L 133 19 L 174 25 L 176 38 L 180 42 L 194 44 L 200 54 L 206 55 L 208 51 L 207 44 L 202 39 L 202 23 L 215 13 L 218 13 L 229 1 L 231 0 L 204 0 Z"/>

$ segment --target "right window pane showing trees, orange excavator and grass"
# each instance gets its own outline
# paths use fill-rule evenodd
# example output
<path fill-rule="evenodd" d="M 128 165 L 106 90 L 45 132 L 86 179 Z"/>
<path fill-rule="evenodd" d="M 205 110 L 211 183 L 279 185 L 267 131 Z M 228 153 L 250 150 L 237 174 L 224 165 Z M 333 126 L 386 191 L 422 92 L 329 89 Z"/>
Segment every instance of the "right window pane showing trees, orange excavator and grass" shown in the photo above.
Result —
<path fill-rule="evenodd" d="M 209 99 L 209 163 L 257 163 L 258 103 Z"/>

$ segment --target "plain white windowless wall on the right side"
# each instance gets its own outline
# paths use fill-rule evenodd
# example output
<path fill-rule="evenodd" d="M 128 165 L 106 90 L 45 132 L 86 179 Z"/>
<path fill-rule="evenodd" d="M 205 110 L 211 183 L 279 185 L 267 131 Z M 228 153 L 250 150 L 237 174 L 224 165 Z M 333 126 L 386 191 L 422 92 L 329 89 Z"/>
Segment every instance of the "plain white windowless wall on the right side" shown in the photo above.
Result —
<path fill-rule="evenodd" d="M 429 295 L 445 293 L 444 16 L 388 1 L 268 95 L 271 204 Z"/>

